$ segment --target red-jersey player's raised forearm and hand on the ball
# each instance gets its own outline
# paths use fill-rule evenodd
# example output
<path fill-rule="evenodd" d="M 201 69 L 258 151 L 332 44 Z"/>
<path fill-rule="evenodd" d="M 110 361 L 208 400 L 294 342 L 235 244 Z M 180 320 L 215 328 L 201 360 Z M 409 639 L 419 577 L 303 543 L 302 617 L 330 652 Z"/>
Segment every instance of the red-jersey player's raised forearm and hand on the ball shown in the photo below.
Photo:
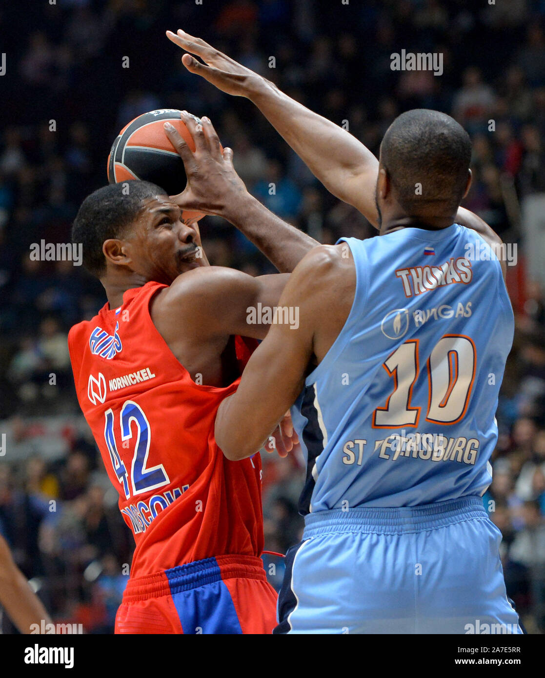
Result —
<path fill-rule="evenodd" d="M 281 273 L 291 273 L 319 243 L 272 214 L 248 193 L 233 167 L 233 151 L 225 148 L 222 152 L 216 130 L 207 117 L 199 125 L 184 111 L 182 119 L 195 141 L 195 153 L 176 129 L 165 123 L 165 132 L 182 157 L 188 178 L 186 189 L 174 197 L 176 203 L 182 209 L 224 217 Z"/>

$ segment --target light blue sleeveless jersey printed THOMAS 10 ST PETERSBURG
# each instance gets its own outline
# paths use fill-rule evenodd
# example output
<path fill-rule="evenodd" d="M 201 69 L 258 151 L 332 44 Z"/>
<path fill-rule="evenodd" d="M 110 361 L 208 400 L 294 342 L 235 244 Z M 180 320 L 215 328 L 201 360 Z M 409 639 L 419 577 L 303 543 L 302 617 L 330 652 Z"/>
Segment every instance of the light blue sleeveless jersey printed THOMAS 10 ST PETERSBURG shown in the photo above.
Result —
<path fill-rule="evenodd" d="M 498 258 L 458 224 L 342 241 L 355 299 L 291 413 L 301 513 L 482 496 L 514 331 Z"/>

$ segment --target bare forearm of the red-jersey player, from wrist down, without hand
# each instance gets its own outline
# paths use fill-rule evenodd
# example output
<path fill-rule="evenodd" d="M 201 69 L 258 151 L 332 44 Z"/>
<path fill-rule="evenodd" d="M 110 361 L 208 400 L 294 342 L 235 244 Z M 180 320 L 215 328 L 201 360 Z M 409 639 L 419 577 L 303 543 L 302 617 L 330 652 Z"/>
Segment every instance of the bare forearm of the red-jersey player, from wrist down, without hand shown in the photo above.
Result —
<path fill-rule="evenodd" d="M 250 195 L 238 204 L 230 203 L 222 216 L 254 243 L 280 273 L 291 273 L 307 252 L 320 244 Z"/>

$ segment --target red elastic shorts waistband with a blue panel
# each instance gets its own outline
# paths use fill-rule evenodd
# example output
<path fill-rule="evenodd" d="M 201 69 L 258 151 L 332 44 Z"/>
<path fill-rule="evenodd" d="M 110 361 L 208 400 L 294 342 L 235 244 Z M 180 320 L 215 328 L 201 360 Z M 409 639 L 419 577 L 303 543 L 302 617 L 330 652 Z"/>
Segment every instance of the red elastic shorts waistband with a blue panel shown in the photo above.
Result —
<path fill-rule="evenodd" d="M 123 593 L 123 603 L 190 591 L 205 584 L 233 578 L 266 581 L 262 559 L 249 555 L 222 555 L 130 578 Z"/>

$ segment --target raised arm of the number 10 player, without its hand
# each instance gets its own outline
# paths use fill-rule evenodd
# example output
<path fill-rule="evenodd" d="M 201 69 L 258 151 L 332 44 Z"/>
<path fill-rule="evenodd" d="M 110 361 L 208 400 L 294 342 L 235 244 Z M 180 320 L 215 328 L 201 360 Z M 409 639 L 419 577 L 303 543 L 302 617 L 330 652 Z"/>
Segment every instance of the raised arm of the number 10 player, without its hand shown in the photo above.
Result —
<path fill-rule="evenodd" d="M 346 129 L 310 111 L 264 78 L 251 81 L 247 98 L 330 193 L 375 222 L 378 160 L 368 148 Z"/>

